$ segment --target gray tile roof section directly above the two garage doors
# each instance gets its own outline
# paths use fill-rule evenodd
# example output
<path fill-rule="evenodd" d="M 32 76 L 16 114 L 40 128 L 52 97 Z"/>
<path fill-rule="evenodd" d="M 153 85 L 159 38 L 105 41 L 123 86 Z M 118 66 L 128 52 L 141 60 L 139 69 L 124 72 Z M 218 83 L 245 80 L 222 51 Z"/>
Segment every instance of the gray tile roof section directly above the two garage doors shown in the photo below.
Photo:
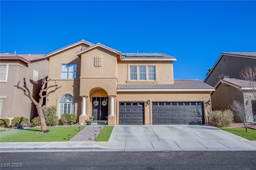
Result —
<path fill-rule="evenodd" d="M 208 89 L 214 91 L 214 87 L 199 80 L 174 80 L 174 84 L 118 84 L 117 89 Z"/>

